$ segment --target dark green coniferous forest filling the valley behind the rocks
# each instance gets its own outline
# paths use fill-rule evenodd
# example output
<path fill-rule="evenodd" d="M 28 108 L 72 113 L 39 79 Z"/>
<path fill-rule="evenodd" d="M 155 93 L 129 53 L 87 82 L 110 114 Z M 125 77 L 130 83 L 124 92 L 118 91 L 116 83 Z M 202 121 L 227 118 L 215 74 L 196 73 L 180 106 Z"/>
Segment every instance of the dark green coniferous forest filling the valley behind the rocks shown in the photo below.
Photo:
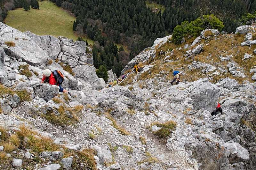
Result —
<path fill-rule="evenodd" d="M 1 19 L 5 18 L 7 10 L 22 7 L 25 1 L 0 0 Z M 95 67 L 104 65 L 108 70 L 113 69 L 117 75 L 141 50 L 150 47 L 156 38 L 170 35 L 174 27 L 183 21 L 190 22 L 200 16 L 214 14 L 223 21 L 223 31 L 231 33 L 238 26 L 236 20 L 246 13 L 253 13 L 256 9 L 256 0 L 154 1 L 164 5 L 164 12 L 152 12 L 144 0 L 51 1 L 76 16 L 74 31 L 79 35 L 87 34 L 93 41 L 97 41 L 93 46 Z M 130 54 L 123 48 L 118 51 L 113 42 L 123 44 L 131 51 Z"/>

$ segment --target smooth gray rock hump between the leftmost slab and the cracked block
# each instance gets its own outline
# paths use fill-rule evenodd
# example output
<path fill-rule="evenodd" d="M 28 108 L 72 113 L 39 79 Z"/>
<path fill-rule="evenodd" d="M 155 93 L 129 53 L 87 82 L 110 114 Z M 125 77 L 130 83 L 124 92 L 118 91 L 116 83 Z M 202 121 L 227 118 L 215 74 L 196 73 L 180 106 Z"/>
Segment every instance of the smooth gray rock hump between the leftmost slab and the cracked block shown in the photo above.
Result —
<path fill-rule="evenodd" d="M 30 31 L 26 31 L 24 34 L 35 41 L 36 44 L 52 58 L 52 60 L 56 60 L 60 53 L 60 40 L 52 35 L 39 36 Z"/>

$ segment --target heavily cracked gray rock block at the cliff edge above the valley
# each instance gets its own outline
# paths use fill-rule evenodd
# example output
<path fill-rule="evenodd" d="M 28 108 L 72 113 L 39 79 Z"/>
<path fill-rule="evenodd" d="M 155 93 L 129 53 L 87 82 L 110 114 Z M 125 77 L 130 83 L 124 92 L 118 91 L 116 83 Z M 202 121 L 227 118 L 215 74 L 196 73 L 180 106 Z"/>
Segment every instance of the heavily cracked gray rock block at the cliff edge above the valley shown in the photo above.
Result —
<path fill-rule="evenodd" d="M 81 48 L 75 44 L 73 40 L 69 40 L 66 37 L 58 37 L 60 40 L 61 53 L 58 58 L 65 64 L 68 64 L 71 68 L 77 65 L 87 64 L 86 46 Z M 82 70 L 81 70 L 82 71 Z"/>

